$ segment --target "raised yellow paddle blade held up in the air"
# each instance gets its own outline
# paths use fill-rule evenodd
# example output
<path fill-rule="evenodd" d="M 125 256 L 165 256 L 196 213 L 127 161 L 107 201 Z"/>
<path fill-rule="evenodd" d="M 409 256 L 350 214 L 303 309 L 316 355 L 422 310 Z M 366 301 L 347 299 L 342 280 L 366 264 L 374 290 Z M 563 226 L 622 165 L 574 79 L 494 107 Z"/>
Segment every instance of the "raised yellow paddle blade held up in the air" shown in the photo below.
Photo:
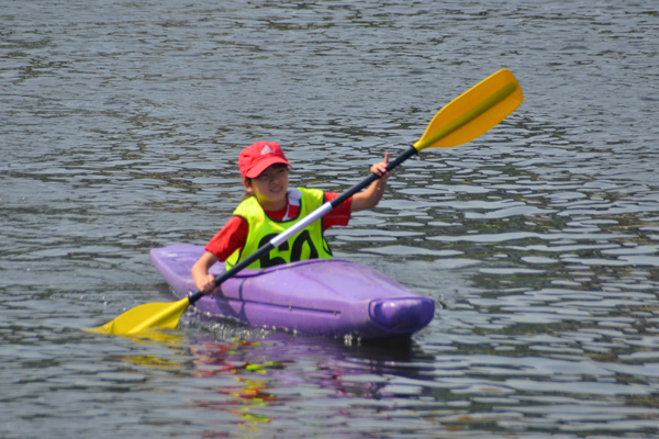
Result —
<path fill-rule="evenodd" d="M 439 110 L 414 147 L 420 151 L 473 140 L 503 121 L 523 99 L 522 88 L 513 74 L 507 69 L 499 70 Z"/>

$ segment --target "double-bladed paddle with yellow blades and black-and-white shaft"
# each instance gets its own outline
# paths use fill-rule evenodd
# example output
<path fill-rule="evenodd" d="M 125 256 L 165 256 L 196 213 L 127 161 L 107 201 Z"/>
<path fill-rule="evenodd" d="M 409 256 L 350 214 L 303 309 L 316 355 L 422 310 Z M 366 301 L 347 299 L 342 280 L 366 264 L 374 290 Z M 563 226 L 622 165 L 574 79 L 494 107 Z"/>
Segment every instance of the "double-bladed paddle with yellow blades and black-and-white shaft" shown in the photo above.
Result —
<path fill-rule="evenodd" d="M 520 106 L 523 99 L 520 83 L 517 83 L 517 80 L 510 70 L 503 69 L 495 72 L 454 99 L 435 114 L 435 117 L 428 124 L 421 139 L 395 160 L 389 162 L 387 170 L 391 171 L 422 149 L 448 148 L 474 139 L 503 121 Z M 260 259 L 261 256 L 268 254 L 271 249 L 279 247 L 290 237 L 297 235 L 379 178 L 380 176 L 371 173 L 364 181 L 355 184 L 338 198 L 326 202 L 300 219 L 293 227 L 277 235 L 246 259 L 216 277 L 215 286 L 220 286 L 222 282 L 233 278 L 237 272 L 250 266 L 257 259 Z M 114 320 L 89 330 L 100 334 L 133 335 L 145 329 L 172 329 L 178 325 L 181 315 L 188 306 L 202 296 L 203 293 L 198 291 L 178 302 L 139 305 L 126 311 Z"/>

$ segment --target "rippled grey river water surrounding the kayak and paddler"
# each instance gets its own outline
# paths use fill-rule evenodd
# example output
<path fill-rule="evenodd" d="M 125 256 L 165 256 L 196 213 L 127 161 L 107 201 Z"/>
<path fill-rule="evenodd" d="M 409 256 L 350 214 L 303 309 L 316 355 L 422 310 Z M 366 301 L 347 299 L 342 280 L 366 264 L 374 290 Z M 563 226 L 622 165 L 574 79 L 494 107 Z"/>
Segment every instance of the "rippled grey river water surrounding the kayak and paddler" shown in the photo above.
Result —
<path fill-rule="evenodd" d="M 0 0 L 0 437 L 659 435 L 659 9 L 590 1 Z M 400 167 L 335 254 L 444 303 L 407 342 L 212 320 L 172 301 L 279 142 L 342 191 L 501 68 L 525 101 Z"/>

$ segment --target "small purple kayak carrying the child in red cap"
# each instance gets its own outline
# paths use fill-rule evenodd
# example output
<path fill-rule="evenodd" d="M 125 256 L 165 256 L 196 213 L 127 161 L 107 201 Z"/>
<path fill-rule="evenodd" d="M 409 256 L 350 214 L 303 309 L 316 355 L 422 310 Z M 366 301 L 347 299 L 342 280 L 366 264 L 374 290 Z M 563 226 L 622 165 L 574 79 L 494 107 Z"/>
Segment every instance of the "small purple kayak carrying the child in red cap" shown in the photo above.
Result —
<path fill-rule="evenodd" d="M 197 291 L 190 270 L 202 246 L 153 249 L 152 261 L 179 297 Z M 217 275 L 224 264 L 210 272 Z M 194 306 L 252 326 L 308 335 L 361 339 L 410 337 L 435 315 L 435 302 L 422 297 L 370 267 L 339 259 L 312 259 L 243 270 Z"/>

